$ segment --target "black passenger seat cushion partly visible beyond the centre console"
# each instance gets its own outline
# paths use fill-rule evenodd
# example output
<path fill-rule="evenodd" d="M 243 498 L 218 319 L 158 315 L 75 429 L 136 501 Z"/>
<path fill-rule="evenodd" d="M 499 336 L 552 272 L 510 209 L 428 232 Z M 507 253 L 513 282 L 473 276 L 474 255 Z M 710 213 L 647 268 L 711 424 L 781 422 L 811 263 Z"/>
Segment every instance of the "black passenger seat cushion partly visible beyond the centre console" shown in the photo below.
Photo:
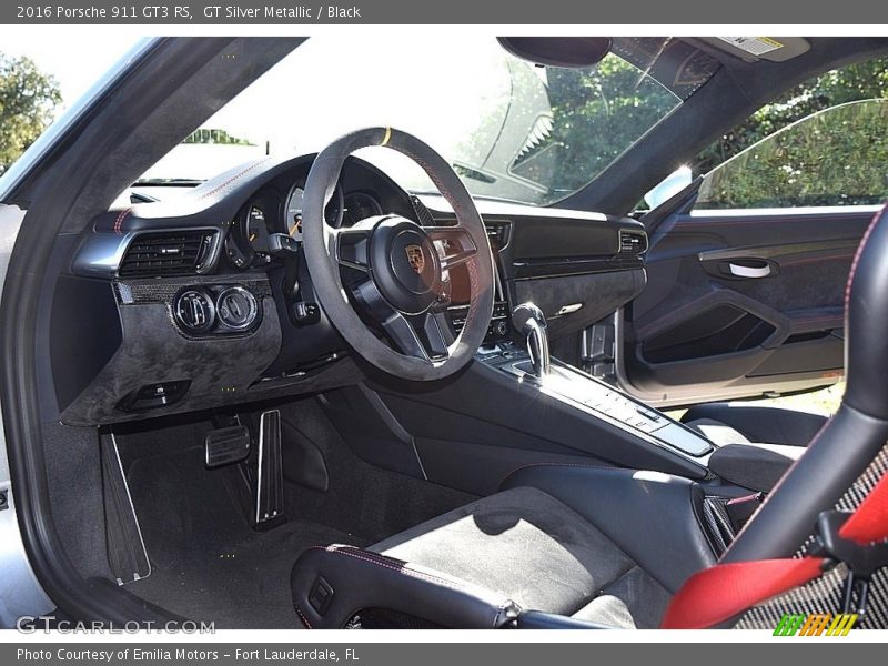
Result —
<path fill-rule="evenodd" d="M 709 403 L 690 407 L 682 416 L 682 423 L 690 424 L 695 421 L 723 423 L 739 432 L 749 442 L 807 446 L 817 431 L 824 427 L 827 417 L 778 407 Z"/>

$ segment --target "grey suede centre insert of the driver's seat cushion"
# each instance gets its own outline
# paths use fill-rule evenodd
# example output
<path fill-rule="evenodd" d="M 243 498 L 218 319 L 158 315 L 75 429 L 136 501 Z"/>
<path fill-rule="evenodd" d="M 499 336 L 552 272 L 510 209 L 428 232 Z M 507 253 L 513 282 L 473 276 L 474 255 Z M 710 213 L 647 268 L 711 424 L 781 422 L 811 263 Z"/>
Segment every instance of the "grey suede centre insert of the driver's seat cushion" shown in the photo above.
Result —
<path fill-rule="evenodd" d="M 669 593 L 569 506 L 516 487 L 370 548 L 484 586 L 522 608 L 653 628 Z"/>

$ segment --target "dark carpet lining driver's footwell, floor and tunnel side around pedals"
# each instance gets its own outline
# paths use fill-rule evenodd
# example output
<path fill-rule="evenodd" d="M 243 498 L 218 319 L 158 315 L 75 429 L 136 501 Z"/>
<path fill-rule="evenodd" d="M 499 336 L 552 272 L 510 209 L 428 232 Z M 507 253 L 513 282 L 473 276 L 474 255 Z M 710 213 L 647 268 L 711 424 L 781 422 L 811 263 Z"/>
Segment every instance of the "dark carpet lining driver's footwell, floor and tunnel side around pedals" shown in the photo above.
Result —
<path fill-rule="evenodd" d="M 475 500 L 357 457 L 314 398 L 281 408 L 293 437 L 321 452 L 327 492 L 285 482 L 289 522 L 255 532 L 240 507 L 234 466 L 208 471 L 205 422 L 120 433 L 118 442 L 152 573 L 125 589 L 218 628 L 293 628 L 290 571 L 317 544 L 367 546 Z"/>

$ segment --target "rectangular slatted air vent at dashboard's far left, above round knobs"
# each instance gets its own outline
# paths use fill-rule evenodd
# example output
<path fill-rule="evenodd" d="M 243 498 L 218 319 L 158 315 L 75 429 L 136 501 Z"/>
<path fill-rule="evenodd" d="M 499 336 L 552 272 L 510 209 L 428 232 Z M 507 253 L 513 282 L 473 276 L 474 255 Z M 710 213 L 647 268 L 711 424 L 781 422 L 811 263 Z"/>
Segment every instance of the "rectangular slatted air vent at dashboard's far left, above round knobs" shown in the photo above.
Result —
<path fill-rule="evenodd" d="M 143 233 L 130 243 L 118 274 L 121 278 L 194 275 L 212 256 L 215 231 Z"/>

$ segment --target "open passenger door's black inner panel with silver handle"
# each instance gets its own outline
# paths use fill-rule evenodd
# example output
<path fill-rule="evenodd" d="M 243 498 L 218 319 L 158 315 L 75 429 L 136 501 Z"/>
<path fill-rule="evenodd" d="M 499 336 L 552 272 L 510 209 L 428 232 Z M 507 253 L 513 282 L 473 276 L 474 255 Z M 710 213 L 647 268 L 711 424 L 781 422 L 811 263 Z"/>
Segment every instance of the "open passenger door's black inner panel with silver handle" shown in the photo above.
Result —
<path fill-rule="evenodd" d="M 697 211 L 653 230 L 618 376 L 655 404 L 838 381 L 845 285 L 878 206 Z"/>

